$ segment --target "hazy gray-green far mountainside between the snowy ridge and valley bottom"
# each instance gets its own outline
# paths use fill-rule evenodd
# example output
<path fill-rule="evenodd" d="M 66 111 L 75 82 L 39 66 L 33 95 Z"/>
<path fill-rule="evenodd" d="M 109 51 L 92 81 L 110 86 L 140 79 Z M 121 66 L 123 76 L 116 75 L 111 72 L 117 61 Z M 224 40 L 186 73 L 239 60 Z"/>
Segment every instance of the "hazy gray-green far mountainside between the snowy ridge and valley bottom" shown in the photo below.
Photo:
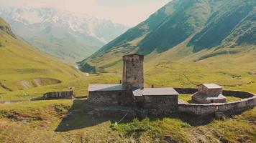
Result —
<path fill-rule="evenodd" d="M 40 51 L 72 63 L 90 56 L 103 45 L 91 36 L 55 26 L 47 26 L 37 36 L 27 38 L 26 41 Z"/>

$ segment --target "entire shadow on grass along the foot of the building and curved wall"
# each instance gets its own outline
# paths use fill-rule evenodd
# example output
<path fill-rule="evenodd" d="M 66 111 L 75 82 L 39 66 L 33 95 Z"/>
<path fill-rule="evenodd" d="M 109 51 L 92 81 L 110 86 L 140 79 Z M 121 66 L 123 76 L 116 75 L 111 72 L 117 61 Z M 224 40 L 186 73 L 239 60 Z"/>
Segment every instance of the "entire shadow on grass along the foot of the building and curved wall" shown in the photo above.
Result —
<path fill-rule="evenodd" d="M 62 119 L 58 127 L 55 129 L 55 132 L 68 132 L 70 130 L 93 127 L 104 122 L 111 122 L 111 124 L 114 124 L 114 122 L 121 119 L 120 117 L 114 117 L 112 115 L 91 115 L 90 112 L 92 112 L 95 108 L 97 107 L 93 107 L 93 105 L 88 104 L 88 101 L 86 99 L 74 100 L 73 106 L 69 109 L 66 117 Z M 239 112 L 237 114 L 242 114 L 242 112 Z M 226 117 L 230 118 L 237 114 L 227 115 Z M 137 114 L 137 118 L 140 120 L 145 119 L 146 117 L 148 117 L 150 121 L 163 120 L 165 118 L 178 119 L 182 122 L 190 124 L 193 127 L 198 127 L 213 122 L 214 119 L 216 119 L 216 114 L 209 114 L 207 116 L 200 117 L 188 113 L 173 113 L 163 116 L 153 116 L 147 114 L 142 117 Z M 127 116 L 123 119 L 122 123 L 133 122 L 133 119 L 134 118 Z"/>

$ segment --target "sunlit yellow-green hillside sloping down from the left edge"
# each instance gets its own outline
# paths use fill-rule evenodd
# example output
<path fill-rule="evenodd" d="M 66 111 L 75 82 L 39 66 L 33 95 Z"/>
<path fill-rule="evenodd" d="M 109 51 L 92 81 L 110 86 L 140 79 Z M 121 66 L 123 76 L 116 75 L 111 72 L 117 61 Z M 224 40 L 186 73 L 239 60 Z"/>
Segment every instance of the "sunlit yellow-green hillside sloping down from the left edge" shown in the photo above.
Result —
<path fill-rule="evenodd" d="M 9 24 L 0 18 L 0 94 L 60 84 L 79 77 L 83 74 L 74 66 L 18 39 Z"/>

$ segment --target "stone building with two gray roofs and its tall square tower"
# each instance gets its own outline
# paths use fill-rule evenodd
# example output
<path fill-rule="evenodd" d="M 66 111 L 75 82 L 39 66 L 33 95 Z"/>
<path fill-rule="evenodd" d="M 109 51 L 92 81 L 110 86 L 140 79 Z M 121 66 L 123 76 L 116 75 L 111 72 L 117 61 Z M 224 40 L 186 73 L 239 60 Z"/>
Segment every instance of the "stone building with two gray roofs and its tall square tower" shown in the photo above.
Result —
<path fill-rule="evenodd" d="M 144 88 L 144 56 L 123 56 L 122 84 L 90 84 L 88 102 L 99 105 L 126 105 L 145 109 L 178 107 L 178 92 L 173 88 Z"/>

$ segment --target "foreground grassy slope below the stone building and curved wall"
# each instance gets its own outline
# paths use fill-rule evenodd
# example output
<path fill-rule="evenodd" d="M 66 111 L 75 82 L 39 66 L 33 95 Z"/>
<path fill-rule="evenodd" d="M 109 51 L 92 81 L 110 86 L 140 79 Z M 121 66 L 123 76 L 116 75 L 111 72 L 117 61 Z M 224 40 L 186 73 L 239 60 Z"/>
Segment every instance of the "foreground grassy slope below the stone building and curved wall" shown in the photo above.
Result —
<path fill-rule="evenodd" d="M 195 125 L 184 115 L 137 120 L 92 117 L 83 100 L 0 105 L 0 142 L 255 142 L 255 109 Z M 67 115 L 70 114 L 70 115 Z"/>

